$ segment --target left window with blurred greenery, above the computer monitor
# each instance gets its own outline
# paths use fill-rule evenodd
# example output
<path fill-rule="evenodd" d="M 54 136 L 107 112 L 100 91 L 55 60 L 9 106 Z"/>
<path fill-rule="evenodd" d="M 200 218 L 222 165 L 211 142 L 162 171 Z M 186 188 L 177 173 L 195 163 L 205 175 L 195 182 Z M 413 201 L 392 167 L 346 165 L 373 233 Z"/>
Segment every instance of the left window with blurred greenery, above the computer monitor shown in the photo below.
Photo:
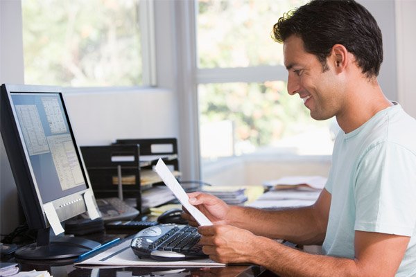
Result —
<path fill-rule="evenodd" d="M 28 84 L 144 84 L 139 0 L 22 0 Z"/>

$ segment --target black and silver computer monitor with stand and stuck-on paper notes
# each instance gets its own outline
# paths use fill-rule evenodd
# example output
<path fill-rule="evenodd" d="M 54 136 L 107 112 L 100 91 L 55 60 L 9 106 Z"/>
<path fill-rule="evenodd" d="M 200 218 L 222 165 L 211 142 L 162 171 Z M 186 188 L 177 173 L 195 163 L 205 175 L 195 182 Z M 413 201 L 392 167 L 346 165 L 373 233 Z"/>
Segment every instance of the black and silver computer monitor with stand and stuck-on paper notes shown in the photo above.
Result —
<path fill-rule="evenodd" d="M 62 228 L 60 222 L 86 211 L 97 213 L 61 89 L 2 84 L 0 111 L 1 136 L 21 206 L 29 229 L 37 230 L 37 243 L 15 256 L 71 258 L 98 247 L 91 240 L 49 235 L 51 227 Z"/>

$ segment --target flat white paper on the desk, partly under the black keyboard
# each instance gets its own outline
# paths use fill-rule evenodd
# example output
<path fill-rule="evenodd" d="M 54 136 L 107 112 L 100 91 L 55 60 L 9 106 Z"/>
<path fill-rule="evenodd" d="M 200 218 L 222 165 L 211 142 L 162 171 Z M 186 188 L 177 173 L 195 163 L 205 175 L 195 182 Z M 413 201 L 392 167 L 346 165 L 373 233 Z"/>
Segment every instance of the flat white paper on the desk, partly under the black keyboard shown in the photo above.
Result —
<path fill-rule="evenodd" d="M 161 262 L 150 258 L 141 259 L 135 255 L 130 247 L 131 240 L 125 240 L 92 258 L 76 263 L 76 265 L 107 265 L 124 267 L 223 267 L 225 264 L 214 262 L 209 258 L 198 260 L 180 260 Z"/>

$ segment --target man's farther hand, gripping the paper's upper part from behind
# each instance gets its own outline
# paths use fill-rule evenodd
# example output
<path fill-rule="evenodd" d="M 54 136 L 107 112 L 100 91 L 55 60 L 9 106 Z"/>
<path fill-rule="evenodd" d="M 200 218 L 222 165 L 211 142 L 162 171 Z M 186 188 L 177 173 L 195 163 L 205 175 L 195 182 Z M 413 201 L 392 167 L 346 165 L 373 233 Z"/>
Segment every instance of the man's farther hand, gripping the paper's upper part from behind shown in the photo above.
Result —
<path fill-rule="evenodd" d="M 226 224 L 227 215 L 229 213 L 229 206 L 223 202 L 223 200 L 218 199 L 214 195 L 209 195 L 207 193 L 189 193 L 189 204 L 196 206 L 213 224 Z M 184 209 L 184 208 L 183 208 Z M 185 220 L 188 220 L 189 225 L 198 226 L 195 218 L 189 214 L 189 212 L 184 209 L 182 217 Z"/>

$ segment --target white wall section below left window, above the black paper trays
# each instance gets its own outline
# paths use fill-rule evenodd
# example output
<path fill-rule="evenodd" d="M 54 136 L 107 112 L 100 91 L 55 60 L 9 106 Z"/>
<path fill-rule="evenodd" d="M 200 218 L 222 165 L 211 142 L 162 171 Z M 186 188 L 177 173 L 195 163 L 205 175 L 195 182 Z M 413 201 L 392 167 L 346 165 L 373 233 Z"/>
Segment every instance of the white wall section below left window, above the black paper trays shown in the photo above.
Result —
<path fill-rule="evenodd" d="M 177 137 L 175 95 L 166 89 L 64 93 L 79 145 Z"/>

